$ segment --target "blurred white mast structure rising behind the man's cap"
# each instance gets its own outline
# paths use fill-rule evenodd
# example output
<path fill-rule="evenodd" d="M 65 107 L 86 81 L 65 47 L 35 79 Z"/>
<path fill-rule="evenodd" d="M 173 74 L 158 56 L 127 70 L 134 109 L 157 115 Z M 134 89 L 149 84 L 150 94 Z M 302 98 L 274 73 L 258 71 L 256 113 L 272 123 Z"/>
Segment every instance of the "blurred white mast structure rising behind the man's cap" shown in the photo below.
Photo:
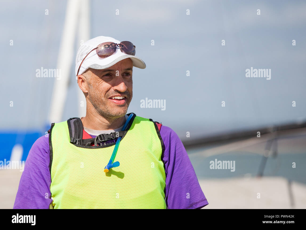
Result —
<path fill-rule="evenodd" d="M 77 23 L 79 22 L 79 23 Z M 76 29 L 78 26 L 78 38 L 80 40 L 87 41 L 89 39 L 89 1 L 81 0 L 68 0 L 65 23 L 62 33 L 62 39 L 58 54 L 57 69 L 61 70 L 61 77 L 54 81 L 54 87 L 52 92 L 52 99 L 50 105 L 50 113 L 48 122 L 58 123 L 62 121 L 62 115 L 64 105 L 66 101 L 69 78 L 71 77 L 71 67 L 75 64 L 75 38 Z M 82 34 L 81 34 L 82 33 Z M 80 46 L 80 43 L 78 47 Z M 74 69 L 74 68 L 73 68 Z M 74 73 L 74 71 L 73 71 Z M 75 82 L 76 83 L 76 82 Z M 77 84 L 76 84 L 77 86 Z M 77 86 L 79 89 L 79 87 Z M 84 116 L 86 111 L 85 98 L 81 90 L 76 98 L 78 98 L 79 116 Z M 83 96 L 80 99 L 80 96 Z M 80 102 L 84 101 L 84 107 L 80 107 Z"/>

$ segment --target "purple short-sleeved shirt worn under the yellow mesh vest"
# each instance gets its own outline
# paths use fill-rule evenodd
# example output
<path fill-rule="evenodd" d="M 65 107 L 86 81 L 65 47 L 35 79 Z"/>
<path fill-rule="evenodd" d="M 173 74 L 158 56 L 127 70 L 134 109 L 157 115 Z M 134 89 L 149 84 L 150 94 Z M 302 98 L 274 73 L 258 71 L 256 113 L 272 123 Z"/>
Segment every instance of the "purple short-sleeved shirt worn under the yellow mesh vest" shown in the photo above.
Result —
<path fill-rule="evenodd" d="M 199 209 L 208 204 L 185 147 L 178 135 L 162 125 L 165 145 L 165 201 L 168 209 Z M 91 135 L 95 138 L 94 135 Z M 25 161 L 13 209 L 49 209 L 51 200 L 49 134 L 38 138 Z M 188 170 L 186 170 L 188 169 Z"/>

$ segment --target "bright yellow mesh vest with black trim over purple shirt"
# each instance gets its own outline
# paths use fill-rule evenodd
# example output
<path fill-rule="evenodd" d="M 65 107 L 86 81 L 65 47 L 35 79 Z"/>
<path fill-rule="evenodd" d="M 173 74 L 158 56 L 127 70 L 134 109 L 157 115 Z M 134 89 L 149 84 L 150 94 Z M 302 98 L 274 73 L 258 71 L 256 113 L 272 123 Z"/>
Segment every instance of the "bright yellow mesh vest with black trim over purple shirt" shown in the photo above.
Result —
<path fill-rule="evenodd" d="M 50 191 L 54 209 L 166 209 L 162 143 L 154 122 L 134 115 L 114 161 L 103 172 L 115 145 L 80 147 L 70 143 L 67 121 L 50 130 Z"/>

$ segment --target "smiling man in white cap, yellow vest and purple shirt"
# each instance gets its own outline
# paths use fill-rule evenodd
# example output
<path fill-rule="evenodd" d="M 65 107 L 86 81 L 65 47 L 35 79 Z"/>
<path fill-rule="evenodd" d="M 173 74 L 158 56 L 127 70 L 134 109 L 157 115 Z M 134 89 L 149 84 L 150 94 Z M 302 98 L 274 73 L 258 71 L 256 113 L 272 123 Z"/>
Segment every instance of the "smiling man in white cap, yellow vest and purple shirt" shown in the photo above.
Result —
<path fill-rule="evenodd" d="M 135 46 L 99 36 L 76 55 L 86 116 L 52 124 L 33 144 L 14 209 L 168 208 L 208 204 L 177 134 L 127 113 Z"/>

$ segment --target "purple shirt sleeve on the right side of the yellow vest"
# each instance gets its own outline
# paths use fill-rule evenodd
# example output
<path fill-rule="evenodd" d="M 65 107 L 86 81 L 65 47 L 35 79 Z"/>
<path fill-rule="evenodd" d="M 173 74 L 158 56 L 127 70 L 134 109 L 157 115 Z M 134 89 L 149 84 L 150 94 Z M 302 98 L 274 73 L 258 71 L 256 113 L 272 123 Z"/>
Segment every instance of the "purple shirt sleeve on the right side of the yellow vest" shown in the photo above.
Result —
<path fill-rule="evenodd" d="M 168 209 L 199 209 L 208 205 L 196 173 L 180 138 L 162 125 L 160 135 L 165 145 L 162 160 L 166 168 L 166 205 Z"/>

